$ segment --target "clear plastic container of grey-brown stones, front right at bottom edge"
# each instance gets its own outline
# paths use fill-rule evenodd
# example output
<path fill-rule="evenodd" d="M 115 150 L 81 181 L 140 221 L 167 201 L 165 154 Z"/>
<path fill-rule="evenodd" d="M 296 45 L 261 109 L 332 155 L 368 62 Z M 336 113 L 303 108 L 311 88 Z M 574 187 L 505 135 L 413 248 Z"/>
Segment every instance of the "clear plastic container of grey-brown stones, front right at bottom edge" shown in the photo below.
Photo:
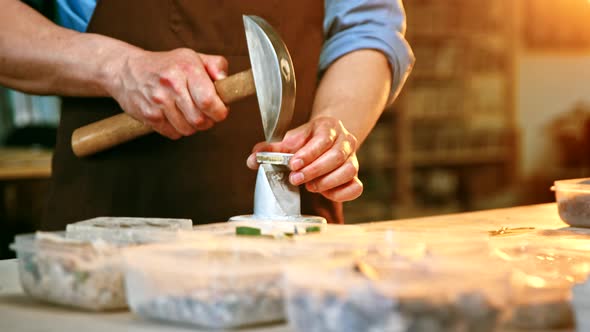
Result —
<path fill-rule="evenodd" d="M 367 257 L 363 265 L 374 274 L 358 260 L 289 267 L 289 322 L 301 332 L 494 331 L 506 308 L 508 272 L 441 263 Z"/>

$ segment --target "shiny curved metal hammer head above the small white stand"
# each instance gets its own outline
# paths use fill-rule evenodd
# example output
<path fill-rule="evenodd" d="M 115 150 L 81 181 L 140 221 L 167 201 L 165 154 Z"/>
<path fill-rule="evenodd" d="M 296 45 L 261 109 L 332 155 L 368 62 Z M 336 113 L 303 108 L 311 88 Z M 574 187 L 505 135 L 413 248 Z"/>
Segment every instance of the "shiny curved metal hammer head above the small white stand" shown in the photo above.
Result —
<path fill-rule="evenodd" d="M 244 16 L 250 64 L 267 142 L 283 139 L 295 108 L 295 70 L 279 34 L 264 19 Z"/>

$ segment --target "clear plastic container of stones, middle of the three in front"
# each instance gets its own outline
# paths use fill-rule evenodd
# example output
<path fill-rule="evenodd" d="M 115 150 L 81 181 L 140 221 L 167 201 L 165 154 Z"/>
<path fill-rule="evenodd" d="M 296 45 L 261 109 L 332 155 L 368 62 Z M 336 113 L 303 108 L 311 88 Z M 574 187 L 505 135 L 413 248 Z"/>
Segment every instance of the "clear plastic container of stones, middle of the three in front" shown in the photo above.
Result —
<path fill-rule="evenodd" d="M 129 306 L 142 317 L 208 328 L 280 321 L 283 263 L 327 254 L 285 241 L 243 238 L 129 250 Z"/>

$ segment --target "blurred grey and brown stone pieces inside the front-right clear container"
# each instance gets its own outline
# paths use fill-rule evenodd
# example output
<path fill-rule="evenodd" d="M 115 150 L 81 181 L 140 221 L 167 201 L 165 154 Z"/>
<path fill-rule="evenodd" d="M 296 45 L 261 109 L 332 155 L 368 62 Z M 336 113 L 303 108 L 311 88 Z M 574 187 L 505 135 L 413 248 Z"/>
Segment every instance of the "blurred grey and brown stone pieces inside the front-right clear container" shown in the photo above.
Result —
<path fill-rule="evenodd" d="M 454 300 L 391 297 L 370 286 L 346 294 L 294 289 L 287 308 L 302 332 L 491 332 L 500 314 L 478 293 Z"/>

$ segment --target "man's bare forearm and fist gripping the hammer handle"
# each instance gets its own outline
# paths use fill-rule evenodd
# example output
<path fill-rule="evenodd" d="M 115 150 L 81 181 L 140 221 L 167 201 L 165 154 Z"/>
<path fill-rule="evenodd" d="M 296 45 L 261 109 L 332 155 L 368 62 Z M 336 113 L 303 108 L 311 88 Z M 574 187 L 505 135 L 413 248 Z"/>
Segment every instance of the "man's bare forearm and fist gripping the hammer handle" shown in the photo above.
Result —
<path fill-rule="evenodd" d="M 0 0 L 0 85 L 31 94 L 115 98 L 172 139 L 211 128 L 228 113 L 213 81 L 221 56 L 148 52 L 107 36 L 64 29 L 18 0 Z"/>

